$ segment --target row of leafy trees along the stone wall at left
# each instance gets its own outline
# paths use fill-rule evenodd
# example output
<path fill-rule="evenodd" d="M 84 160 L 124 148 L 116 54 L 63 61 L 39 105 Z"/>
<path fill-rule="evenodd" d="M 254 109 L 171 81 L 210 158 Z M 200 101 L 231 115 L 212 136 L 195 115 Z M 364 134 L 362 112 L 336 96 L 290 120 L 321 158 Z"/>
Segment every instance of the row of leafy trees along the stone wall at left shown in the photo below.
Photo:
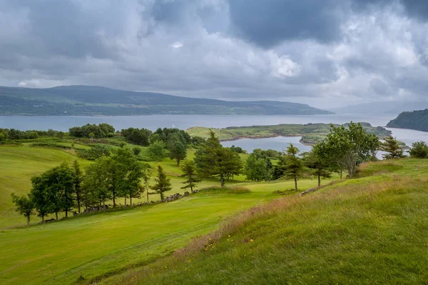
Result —
<path fill-rule="evenodd" d="M 181 166 L 183 177 L 187 178 L 182 189 L 193 189 L 200 179 L 196 176 L 193 161 L 184 161 Z M 170 191 L 170 179 L 166 176 L 162 166 L 158 166 L 155 184 L 150 185 L 151 166 L 136 159 L 133 151 L 121 148 L 113 151 L 111 156 L 101 156 L 93 164 L 86 166 L 85 174 L 81 171 L 78 161 L 70 166 L 63 162 L 60 166 L 44 172 L 31 179 L 32 188 L 26 196 L 11 194 L 16 205 L 16 211 L 23 214 L 27 223 L 31 216 L 37 213 L 42 221 L 49 214 L 64 212 L 65 216 L 72 209 L 78 213 L 81 209 L 91 206 L 105 205 L 106 201 L 124 199 L 124 204 L 132 204 L 132 199 L 141 198 L 146 192 L 147 202 L 149 194 L 160 194 L 164 199 L 165 191 Z M 149 189 L 155 192 L 149 193 Z"/>

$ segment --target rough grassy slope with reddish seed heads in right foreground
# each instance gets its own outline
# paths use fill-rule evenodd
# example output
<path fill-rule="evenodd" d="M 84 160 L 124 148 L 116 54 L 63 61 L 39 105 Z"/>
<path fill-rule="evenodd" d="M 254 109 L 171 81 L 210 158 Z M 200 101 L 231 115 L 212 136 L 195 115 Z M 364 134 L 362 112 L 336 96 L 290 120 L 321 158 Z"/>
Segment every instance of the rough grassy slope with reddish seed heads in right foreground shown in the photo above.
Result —
<path fill-rule="evenodd" d="M 360 179 L 256 207 L 101 284 L 426 284 L 427 171 L 366 164 Z"/>

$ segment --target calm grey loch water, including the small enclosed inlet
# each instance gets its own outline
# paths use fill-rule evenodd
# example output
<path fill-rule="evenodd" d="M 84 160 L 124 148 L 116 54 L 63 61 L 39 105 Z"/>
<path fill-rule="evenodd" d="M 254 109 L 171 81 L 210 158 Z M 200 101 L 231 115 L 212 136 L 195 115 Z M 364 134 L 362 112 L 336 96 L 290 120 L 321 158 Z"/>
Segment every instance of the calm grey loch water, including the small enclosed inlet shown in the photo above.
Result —
<path fill-rule="evenodd" d="M 152 115 L 152 116 L 0 116 L 0 128 L 56 129 L 68 131 L 72 126 L 83 124 L 108 123 L 116 129 L 128 127 L 146 128 L 152 131 L 159 127 L 175 127 L 188 129 L 191 126 L 225 128 L 227 126 L 254 126 L 274 124 L 308 124 L 333 123 L 345 124 L 349 121 L 366 121 L 372 126 L 385 126 L 397 114 L 367 115 L 367 114 L 334 114 L 317 116 L 216 116 L 216 115 Z M 411 145 L 414 141 L 427 141 L 428 133 L 406 129 L 390 129 L 399 141 Z M 240 139 L 224 142 L 225 146 L 240 146 L 247 151 L 253 149 L 276 149 L 282 151 L 288 144 L 295 144 L 301 151 L 307 151 L 310 146 L 303 146 L 300 137 L 277 137 L 270 139 Z"/>

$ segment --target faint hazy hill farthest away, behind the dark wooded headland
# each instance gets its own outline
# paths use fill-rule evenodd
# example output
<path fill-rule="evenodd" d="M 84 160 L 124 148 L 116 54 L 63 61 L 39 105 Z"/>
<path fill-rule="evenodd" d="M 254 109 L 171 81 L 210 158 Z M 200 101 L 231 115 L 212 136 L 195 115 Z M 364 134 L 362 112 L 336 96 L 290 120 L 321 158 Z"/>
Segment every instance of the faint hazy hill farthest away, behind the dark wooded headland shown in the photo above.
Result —
<path fill-rule="evenodd" d="M 342 114 L 399 114 L 403 111 L 413 111 L 428 108 L 426 101 L 386 101 L 365 104 L 348 105 L 329 109 Z"/>

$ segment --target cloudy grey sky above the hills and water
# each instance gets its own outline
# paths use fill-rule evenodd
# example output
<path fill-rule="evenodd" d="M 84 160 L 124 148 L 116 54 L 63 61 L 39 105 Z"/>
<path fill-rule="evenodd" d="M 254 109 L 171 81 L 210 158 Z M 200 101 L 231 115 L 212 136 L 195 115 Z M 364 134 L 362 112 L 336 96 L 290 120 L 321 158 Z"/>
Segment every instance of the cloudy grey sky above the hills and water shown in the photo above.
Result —
<path fill-rule="evenodd" d="M 0 85 L 425 100 L 426 0 L 0 0 Z"/>

